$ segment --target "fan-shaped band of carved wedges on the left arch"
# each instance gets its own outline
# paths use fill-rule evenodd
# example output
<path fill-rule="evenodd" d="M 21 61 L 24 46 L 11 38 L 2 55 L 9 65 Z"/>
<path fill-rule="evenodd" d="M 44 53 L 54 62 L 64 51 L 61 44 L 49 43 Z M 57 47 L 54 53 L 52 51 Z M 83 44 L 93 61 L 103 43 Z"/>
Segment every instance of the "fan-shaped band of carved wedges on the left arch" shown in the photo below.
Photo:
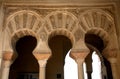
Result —
<path fill-rule="evenodd" d="M 7 29 L 10 34 L 23 28 L 38 32 L 39 29 L 41 29 L 42 21 L 41 15 L 37 14 L 35 11 L 20 10 L 7 17 L 4 29 Z"/>

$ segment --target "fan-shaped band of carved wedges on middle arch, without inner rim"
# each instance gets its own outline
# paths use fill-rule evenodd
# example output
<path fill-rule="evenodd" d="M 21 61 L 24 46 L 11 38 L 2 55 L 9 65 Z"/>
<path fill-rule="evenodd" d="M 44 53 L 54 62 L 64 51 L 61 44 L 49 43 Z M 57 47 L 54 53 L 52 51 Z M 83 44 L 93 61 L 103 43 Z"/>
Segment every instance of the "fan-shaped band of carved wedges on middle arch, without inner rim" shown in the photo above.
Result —
<path fill-rule="evenodd" d="M 77 25 L 77 17 L 67 11 L 54 11 L 45 17 L 45 28 L 47 32 L 51 32 L 56 28 L 65 28 L 72 32 Z"/>

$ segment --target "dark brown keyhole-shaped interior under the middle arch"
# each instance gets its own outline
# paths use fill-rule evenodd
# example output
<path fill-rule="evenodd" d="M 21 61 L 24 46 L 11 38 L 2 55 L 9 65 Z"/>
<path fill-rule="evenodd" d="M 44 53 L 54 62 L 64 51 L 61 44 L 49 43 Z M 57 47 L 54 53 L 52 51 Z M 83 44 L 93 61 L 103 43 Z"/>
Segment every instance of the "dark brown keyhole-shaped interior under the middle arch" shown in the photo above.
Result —
<path fill-rule="evenodd" d="M 46 66 L 46 79 L 64 79 L 65 57 L 72 48 L 71 40 L 66 36 L 56 35 L 49 39 L 49 47 L 52 57 Z"/>

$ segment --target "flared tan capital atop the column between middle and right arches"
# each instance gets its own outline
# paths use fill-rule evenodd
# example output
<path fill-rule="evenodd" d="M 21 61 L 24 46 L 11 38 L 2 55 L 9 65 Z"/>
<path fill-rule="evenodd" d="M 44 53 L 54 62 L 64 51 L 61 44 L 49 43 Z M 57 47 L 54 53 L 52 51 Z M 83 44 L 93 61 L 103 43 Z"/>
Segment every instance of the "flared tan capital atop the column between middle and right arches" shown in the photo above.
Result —
<path fill-rule="evenodd" d="M 71 50 L 70 56 L 75 60 L 84 60 L 89 54 L 89 50 Z"/>

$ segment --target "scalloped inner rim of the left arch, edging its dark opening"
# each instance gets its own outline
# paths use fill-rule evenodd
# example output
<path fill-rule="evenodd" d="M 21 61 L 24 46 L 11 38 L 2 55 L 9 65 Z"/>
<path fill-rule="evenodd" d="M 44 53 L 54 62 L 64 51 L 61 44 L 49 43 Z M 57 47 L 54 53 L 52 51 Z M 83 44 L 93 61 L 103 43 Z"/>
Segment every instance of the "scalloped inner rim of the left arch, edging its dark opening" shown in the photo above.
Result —
<path fill-rule="evenodd" d="M 17 32 L 15 32 L 12 37 L 11 37 L 11 45 L 14 51 L 15 50 L 15 46 L 16 46 L 16 42 L 24 36 L 33 36 L 36 38 L 37 42 L 38 42 L 38 36 L 30 29 L 22 29 L 22 30 L 18 30 Z"/>

